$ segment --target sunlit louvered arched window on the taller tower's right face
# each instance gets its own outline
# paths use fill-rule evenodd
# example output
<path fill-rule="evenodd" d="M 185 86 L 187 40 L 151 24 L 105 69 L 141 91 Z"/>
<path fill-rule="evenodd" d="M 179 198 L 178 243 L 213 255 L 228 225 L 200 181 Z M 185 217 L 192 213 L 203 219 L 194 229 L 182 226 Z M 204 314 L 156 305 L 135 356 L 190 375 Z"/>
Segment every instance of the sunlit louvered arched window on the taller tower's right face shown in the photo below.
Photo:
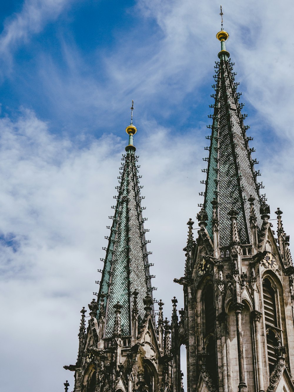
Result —
<path fill-rule="evenodd" d="M 276 296 L 269 279 L 263 281 L 263 304 L 265 327 L 267 328 L 267 358 L 269 361 L 269 373 L 274 370 L 278 356 L 274 347 L 278 346 L 277 332 L 277 312 L 276 312 Z"/>

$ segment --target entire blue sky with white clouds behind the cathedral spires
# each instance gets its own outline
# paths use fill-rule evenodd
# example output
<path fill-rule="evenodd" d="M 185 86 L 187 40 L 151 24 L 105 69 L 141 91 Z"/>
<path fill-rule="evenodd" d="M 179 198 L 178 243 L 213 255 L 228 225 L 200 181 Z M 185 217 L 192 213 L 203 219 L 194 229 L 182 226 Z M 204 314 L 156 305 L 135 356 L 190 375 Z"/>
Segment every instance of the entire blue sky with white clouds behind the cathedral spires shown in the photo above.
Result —
<path fill-rule="evenodd" d="M 271 218 L 280 207 L 292 238 L 294 5 L 222 5 Z M 63 365 L 76 360 L 79 310 L 97 291 L 132 99 L 155 297 L 165 317 L 173 296 L 182 307 L 173 278 L 184 270 L 186 222 L 203 200 L 219 7 L 214 0 L 0 4 L 5 391 L 63 390 L 65 379 L 73 388 Z"/>

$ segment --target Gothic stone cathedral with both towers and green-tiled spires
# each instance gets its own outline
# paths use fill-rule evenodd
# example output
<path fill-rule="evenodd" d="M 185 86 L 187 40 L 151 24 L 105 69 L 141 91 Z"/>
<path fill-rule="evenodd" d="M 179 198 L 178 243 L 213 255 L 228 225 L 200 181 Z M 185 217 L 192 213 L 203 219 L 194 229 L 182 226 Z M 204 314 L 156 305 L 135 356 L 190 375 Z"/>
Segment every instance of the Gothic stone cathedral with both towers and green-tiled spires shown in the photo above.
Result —
<path fill-rule="evenodd" d="M 187 352 L 185 392 L 294 392 L 294 267 L 280 208 L 277 234 L 249 128 L 226 50 L 229 34 L 216 34 L 215 94 L 204 202 L 190 218 L 184 248 L 184 309 L 174 297 L 171 321 L 158 302 L 141 206 L 138 156 L 131 124 L 119 168 L 116 205 L 99 292 L 81 310 L 74 392 L 183 392 L 180 347 Z M 202 194 L 202 192 L 201 192 Z M 193 236 L 193 225 L 197 236 Z M 197 229 L 198 227 L 198 229 Z M 197 231 L 198 230 L 198 231 Z M 65 391 L 69 390 L 66 381 Z"/>

